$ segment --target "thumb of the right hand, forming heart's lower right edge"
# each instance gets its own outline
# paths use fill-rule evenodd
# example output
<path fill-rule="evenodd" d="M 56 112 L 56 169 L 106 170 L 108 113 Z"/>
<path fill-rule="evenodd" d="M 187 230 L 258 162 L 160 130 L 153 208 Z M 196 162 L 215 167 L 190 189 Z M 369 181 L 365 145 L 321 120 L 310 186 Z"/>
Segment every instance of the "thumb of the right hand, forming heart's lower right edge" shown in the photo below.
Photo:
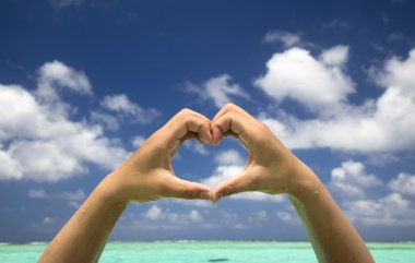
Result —
<path fill-rule="evenodd" d="M 222 182 L 212 191 L 212 203 L 217 203 L 224 196 L 252 190 L 252 177 L 244 170 L 238 176 Z"/>

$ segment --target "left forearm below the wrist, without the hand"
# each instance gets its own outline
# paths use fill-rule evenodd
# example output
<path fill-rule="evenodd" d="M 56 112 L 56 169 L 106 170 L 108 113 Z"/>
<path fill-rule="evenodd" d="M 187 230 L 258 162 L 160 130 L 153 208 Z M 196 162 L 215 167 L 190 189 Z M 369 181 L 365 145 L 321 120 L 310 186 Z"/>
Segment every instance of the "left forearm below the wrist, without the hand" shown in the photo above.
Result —
<path fill-rule="evenodd" d="M 127 202 L 106 177 L 50 242 L 39 262 L 97 262 Z"/>

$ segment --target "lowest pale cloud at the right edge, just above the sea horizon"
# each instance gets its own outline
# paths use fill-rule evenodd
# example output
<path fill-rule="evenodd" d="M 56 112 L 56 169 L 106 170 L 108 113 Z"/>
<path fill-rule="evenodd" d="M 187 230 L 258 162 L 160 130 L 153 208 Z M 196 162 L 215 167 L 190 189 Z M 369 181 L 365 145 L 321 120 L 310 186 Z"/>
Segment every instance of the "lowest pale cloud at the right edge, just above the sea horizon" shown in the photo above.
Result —
<path fill-rule="evenodd" d="M 415 210 L 399 193 L 377 200 L 354 200 L 344 205 L 347 217 L 367 226 L 415 226 Z"/>

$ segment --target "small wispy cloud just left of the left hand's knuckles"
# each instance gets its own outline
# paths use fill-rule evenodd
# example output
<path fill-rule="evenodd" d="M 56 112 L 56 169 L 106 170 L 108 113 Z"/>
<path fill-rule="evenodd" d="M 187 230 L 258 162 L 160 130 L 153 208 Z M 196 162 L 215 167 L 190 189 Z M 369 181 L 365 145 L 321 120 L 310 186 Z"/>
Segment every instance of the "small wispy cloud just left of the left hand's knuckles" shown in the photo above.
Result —
<path fill-rule="evenodd" d="M 143 109 L 138 104 L 131 101 L 126 94 L 105 96 L 100 105 L 105 109 L 118 113 L 119 118 L 128 117 L 131 121 L 138 123 L 150 123 L 161 115 L 154 108 Z"/>

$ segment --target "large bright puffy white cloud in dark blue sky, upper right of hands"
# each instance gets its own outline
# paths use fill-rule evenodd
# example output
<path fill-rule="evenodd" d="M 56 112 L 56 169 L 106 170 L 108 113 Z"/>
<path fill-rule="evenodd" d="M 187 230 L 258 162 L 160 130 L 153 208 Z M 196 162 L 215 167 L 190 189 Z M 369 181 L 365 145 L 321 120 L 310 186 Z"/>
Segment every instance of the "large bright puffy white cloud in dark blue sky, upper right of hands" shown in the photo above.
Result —
<path fill-rule="evenodd" d="M 316 60 L 301 48 L 275 53 L 266 62 L 266 74 L 254 84 L 276 101 L 290 98 L 319 112 L 335 108 L 355 92 L 354 83 L 342 70 L 347 49 L 334 47 L 321 58 Z"/>

